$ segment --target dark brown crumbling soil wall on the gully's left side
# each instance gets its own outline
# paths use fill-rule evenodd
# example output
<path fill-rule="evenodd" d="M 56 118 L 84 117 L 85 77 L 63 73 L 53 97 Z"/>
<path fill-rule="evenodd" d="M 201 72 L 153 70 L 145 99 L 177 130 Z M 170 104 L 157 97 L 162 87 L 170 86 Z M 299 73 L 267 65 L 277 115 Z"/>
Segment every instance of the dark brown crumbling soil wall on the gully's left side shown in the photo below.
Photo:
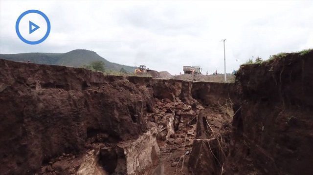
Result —
<path fill-rule="evenodd" d="M 2 59 L 0 71 L 1 174 L 33 174 L 55 157 L 80 155 L 89 137 L 114 143 L 147 130 L 153 103 L 123 77 Z"/>

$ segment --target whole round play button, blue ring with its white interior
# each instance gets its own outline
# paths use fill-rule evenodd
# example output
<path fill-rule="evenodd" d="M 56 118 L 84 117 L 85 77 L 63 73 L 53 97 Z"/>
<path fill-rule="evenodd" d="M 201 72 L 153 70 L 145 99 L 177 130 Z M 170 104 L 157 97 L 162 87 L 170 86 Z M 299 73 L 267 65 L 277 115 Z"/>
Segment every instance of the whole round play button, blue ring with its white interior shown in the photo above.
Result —
<path fill-rule="evenodd" d="M 16 34 L 27 44 L 39 44 L 43 42 L 49 36 L 50 29 L 51 26 L 48 17 L 39 10 L 27 10 L 23 12 L 15 24 Z"/>

